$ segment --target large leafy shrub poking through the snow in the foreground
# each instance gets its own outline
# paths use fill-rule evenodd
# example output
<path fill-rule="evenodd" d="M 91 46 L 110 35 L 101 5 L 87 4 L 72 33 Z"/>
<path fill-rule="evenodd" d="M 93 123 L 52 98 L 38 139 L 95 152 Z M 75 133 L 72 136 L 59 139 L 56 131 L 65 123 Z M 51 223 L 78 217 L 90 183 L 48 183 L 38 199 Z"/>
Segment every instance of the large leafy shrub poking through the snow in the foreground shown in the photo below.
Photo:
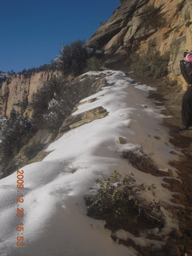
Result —
<path fill-rule="evenodd" d="M 163 226 L 159 203 L 142 197 L 143 191 L 153 190 L 154 185 L 136 185 L 132 175 L 122 177 L 116 171 L 97 183 L 97 189 L 85 197 L 88 216 L 103 219 L 114 229 L 129 230 L 134 220 L 140 226 Z"/>

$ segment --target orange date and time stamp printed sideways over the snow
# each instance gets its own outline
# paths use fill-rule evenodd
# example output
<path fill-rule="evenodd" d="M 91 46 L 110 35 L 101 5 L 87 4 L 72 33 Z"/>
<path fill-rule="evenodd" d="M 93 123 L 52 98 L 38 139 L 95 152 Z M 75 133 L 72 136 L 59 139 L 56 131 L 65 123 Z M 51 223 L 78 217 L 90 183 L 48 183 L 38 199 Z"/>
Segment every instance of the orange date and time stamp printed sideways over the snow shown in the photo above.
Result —
<path fill-rule="evenodd" d="M 24 189 L 24 170 L 17 170 L 17 189 L 18 189 L 18 194 L 17 194 L 17 211 L 16 211 L 16 216 L 20 219 L 22 219 L 25 215 L 24 213 L 24 208 L 22 207 L 22 203 L 24 202 L 24 195 L 23 195 L 23 189 Z M 19 223 L 17 224 L 17 246 L 24 246 L 24 224 Z"/>

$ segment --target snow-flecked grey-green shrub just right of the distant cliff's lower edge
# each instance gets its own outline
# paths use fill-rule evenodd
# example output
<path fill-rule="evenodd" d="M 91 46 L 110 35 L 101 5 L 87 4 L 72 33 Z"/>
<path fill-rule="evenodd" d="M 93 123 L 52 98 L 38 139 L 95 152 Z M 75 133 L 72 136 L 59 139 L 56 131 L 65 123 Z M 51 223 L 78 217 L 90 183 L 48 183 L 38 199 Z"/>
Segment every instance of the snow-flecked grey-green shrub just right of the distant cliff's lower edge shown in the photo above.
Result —
<path fill-rule="evenodd" d="M 37 94 L 34 94 L 31 107 L 33 121 L 39 129 L 56 131 L 70 114 L 76 102 L 72 102 L 71 86 L 65 78 L 52 78 Z M 77 96 L 78 98 L 78 96 Z"/>

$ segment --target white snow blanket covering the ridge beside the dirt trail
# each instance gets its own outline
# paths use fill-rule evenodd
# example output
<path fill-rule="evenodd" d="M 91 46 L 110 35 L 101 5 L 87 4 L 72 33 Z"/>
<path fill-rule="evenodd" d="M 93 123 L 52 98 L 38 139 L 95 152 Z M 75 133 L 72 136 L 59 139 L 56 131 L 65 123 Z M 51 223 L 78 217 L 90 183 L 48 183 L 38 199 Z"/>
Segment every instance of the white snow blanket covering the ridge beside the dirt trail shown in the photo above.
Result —
<path fill-rule="evenodd" d="M 102 106 L 109 114 L 106 118 L 87 123 L 70 130 L 50 144 L 50 152 L 42 162 L 23 166 L 25 188 L 22 189 L 25 202 L 24 218 L 16 216 L 17 174 L 0 181 L 0 255 L 3 256 L 134 256 L 133 248 L 113 242 L 110 230 L 104 229 L 105 222 L 86 216 L 84 195 L 90 192 L 97 178 L 106 178 L 117 170 L 121 174 L 134 174 L 138 183 L 154 183 L 154 195 L 148 198 L 170 203 L 171 193 L 162 187 L 162 177 L 142 173 L 120 157 L 122 150 L 133 150 L 142 146 L 159 168 L 170 168 L 170 160 L 177 159 L 170 154 L 178 150 L 170 144 L 169 131 L 162 126 L 162 114 L 154 102 L 147 98 L 148 86 L 134 84 L 122 71 L 106 70 L 88 72 L 86 75 L 106 76 L 109 86 L 103 87 L 78 107 L 74 114 Z M 142 106 L 147 106 L 143 108 Z M 118 137 L 126 138 L 126 144 L 119 144 Z M 160 140 L 154 137 L 158 136 Z M 174 175 L 177 176 L 175 170 Z M 164 210 L 166 226 L 163 234 L 177 226 L 174 219 Z M 23 223 L 25 246 L 16 246 L 16 226 Z M 19 234 L 20 235 L 20 234 Z M 117 231 L 118 238 L 131 234 Z M 133 237 L 133 235 L 132 235 Z M 140 244 L 148 244 L 145 238 L 138 238 Z M 152 242 L 152 244 L 158 242 Z"/>

